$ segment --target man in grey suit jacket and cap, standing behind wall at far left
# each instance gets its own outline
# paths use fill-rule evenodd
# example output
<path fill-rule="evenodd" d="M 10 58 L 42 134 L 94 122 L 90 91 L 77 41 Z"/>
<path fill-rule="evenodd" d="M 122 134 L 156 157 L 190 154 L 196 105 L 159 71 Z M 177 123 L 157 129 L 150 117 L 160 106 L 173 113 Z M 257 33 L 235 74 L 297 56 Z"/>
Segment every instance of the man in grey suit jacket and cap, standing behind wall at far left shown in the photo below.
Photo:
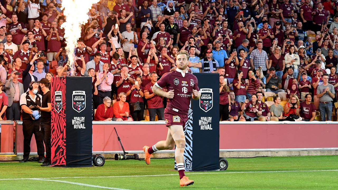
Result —
<path fill-rule="evenodd" d="M 8 96 L 8 107 L 6 110 L 7 120 L 20 120 L 20 96 L 24 93 L 23 84 L 18 81 L 19 72 L 13 70 L 6 80 L 6 94 Z"/>

